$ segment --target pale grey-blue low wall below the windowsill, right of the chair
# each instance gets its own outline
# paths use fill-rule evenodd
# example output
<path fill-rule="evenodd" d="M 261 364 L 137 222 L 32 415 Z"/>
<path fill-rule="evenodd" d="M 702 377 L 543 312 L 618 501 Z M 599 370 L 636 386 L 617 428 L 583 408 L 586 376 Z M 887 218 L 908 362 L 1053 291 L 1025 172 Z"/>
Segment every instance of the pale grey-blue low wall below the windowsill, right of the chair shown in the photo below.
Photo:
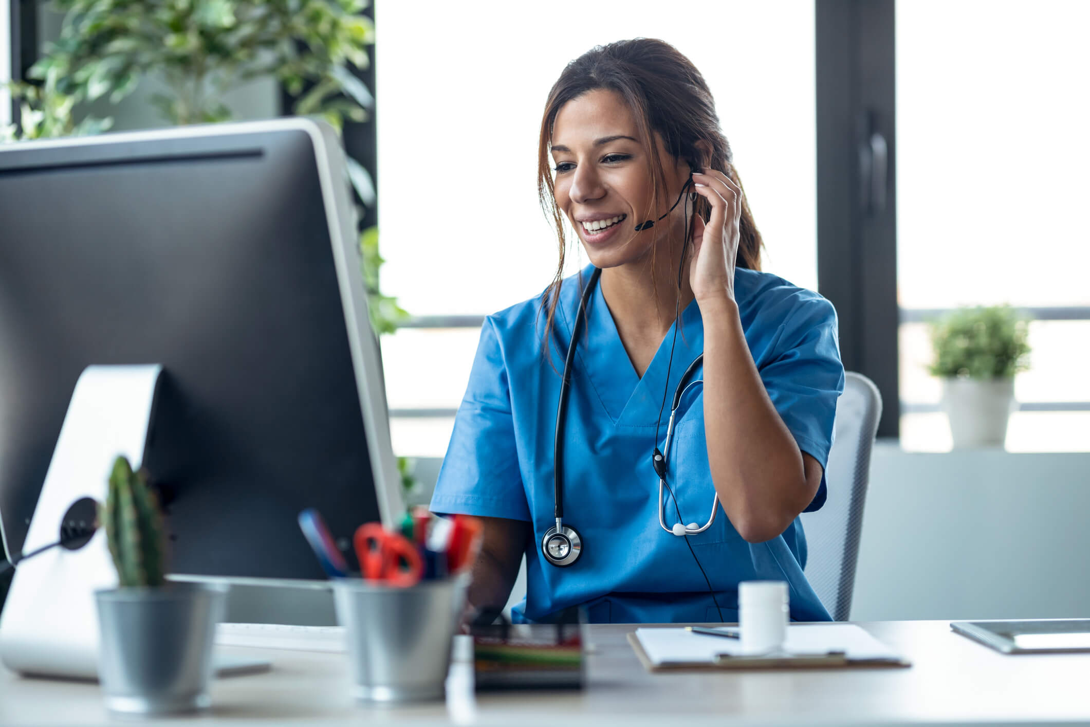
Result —
<path fill-rule="evenodd" d="M 851 619 L 1090 618 L 1088 513 L 1090 453 L 879 444 Z"/>

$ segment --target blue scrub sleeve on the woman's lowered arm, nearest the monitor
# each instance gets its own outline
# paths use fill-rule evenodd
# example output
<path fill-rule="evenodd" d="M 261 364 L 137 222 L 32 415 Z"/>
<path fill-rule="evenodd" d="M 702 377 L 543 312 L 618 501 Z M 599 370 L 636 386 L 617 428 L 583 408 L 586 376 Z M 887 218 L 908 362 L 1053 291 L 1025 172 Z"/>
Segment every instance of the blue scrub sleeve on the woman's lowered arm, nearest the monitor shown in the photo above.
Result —
<path fill-rule="evenodd" d="M 507 368 L 496 326 L 481 329 L 470 383 L 455 417 L 431 509 L 530 520 L 511 415 Z"/>

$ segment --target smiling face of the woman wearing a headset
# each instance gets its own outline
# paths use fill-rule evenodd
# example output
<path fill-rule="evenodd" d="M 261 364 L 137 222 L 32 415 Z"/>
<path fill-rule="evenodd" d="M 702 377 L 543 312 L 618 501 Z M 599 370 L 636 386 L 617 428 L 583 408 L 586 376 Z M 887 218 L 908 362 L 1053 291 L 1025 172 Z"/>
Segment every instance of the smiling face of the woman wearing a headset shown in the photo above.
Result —
<path fill-rule="evenodd" d="M 685 205 L 657 220 L 677 199 L 689 168 L 666 153 L 662 137 L 655 133 L 659 159 L 667 165 L 669 186 L 661 191 L 662 208 L 651 210 L 652 181 L 637 129 L 628 105 L 606 89 L 589 92 L 565 104 L 553 126 L 556 203 L 595 267 L 641 260 L 658 239 L 668 239 L 673 233 L 679 240 L 685 231 Z M 655 226 L 637 232 L 635 226 L 647 219 L 656 220 Z M 588 225 L 602 229 L 588 229 Z"/>

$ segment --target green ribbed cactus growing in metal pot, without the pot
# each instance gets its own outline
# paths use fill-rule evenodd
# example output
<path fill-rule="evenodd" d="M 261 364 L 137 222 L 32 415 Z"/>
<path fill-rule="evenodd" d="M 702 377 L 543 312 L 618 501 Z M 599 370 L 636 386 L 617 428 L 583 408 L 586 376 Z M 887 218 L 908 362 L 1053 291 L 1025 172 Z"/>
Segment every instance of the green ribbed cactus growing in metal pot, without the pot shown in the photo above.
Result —
<path fill-rule="evenodd" d="M 166 540 L 159 500 L 147 485 L 147 473 L 134 473 L 124 457 L 113 461 L 109 494 L 106 506 L 99 506 L 98 520 L 106 526 L 118 584 L 162 585 Z"/>

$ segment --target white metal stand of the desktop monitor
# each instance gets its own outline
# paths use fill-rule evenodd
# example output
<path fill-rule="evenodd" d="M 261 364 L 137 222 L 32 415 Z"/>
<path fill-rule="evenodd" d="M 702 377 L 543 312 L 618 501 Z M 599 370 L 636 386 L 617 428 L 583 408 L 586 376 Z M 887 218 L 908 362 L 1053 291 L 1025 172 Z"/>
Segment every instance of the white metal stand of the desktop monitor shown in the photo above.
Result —
<path fill-rule="evenodd" d="M 161 374 L 152 364 L 88 366 L 80 375 L 23 553 L 57 542 L 76 500 L 106 500 L 118 455 L 143 461 Z M 97 678 L 95 591 L 117 584 L 101 530 L 80 549 L 51 548 L 19 565 L 0 614 L 0 661 L 24 675 Z M 266 659 L 229 658 L 217 674 L 262 668 Z"/>

